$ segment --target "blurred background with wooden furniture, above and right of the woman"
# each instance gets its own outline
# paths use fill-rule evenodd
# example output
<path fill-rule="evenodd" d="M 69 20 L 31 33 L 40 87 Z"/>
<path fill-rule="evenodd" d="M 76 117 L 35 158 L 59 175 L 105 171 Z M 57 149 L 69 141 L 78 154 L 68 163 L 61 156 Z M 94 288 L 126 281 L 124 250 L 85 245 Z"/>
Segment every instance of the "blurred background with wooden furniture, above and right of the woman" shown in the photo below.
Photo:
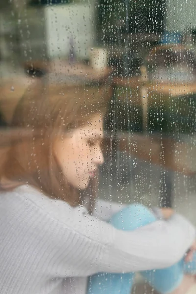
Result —
<path fill-rule="evenodd" d="M 99 197 L 171 206 L 196 224 L 195 0 L 1 0 L 2 130 L 42 76 L 110 80 Z M 133 292 L 151 291 L 138 277 Z"/>

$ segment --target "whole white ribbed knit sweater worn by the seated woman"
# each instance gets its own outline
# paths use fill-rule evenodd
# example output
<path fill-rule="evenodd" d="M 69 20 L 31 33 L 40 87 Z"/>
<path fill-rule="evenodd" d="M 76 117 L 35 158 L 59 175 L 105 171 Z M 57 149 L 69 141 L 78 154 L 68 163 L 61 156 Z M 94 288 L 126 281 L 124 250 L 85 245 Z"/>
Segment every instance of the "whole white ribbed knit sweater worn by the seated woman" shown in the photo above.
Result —
<path fill-rule="evenodd" d="M 120 209 L 98 202 L 96 217 L 32 187 L 1 193 L 0 294 L 85 294 L 89 275 L 167 267 L 194 241 L 177 214 L 133 232 L 100 220 Z"/>

